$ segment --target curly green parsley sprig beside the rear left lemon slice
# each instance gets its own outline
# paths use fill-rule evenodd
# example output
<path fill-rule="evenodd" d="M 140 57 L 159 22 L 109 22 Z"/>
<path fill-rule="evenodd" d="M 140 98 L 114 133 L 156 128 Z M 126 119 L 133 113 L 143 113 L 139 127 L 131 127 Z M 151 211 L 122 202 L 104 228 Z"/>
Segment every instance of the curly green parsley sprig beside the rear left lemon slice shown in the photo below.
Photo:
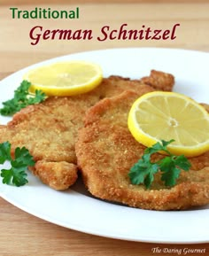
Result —
<path fill-rule="evenodd" d="M 42 90 L 35 90 L 35 95 L 31 97 L 28 89 L 31 83 L 27 80 L 23 80 L 19 88 L 14 91 L 14 97 L 3 102 L 3 108 L 0 109 L 2 115 L 12 115 L 15 112 L 19 112 L 20 109 L 27 105 L 34 105 L 43 102 L 46 95 Z"/>

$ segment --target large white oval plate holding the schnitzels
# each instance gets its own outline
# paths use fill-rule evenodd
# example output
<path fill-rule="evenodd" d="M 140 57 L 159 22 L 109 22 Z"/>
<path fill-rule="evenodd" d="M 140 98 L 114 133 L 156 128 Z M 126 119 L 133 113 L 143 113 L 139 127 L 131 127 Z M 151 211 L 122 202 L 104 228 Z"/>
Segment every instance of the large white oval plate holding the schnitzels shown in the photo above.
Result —
<path fill-rule="evenodd" d="M 67 59 L 100 64 L 104 76 L 139 78 L 151 69 L 174 74 L 174 91 L 208 103 L 209 54 L 191 50 L 131 48 L 81 52 L 29 66 L 0 82 L 0 103 L 11 98 L 32 67 Z M 0 116 L 0 123 L 9 118 Z M 2 198 L 43 220 L 89 234 L 152 243 L 209 242 L 209 206 L 188 211 L 157 212 L 104 202 L 89 196 L 81 182 L 71 190 L 55 191 L 28 174 L 29 183 L 16 188 L 0 182 Z"/>

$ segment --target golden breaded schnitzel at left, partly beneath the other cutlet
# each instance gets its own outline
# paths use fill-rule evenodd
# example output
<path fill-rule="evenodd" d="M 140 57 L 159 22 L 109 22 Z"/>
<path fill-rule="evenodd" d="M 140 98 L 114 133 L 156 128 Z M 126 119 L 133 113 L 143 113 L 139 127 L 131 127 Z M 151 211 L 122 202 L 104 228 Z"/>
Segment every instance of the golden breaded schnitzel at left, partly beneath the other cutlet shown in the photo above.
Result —
<path fill-rule="evenodd" d="M 174 76 L 162 72 L 158 73 L 158 79 L 159 76 L 165 89 L 167 83 L 168 89 L 172 89 Z M 150 80 L 146 78 L 150 84 L 147 85 L 140 80 L 110 76 L 89 93 L 49 97 L 42 104 L 29 105 L 16 113 L 6 126 L 0 127 L 0 143 L 9 141 L 12 154 L 16 147 L 25 146 L 35 159 L 35 167 L 30 170 L 51 188 L 66 190 L 77 179 L 74 143 L 85 112 L 100 99 L 119 95 L 127 89 L 139 94 L 152 91 L 155 80 L 152 76 Z"/>

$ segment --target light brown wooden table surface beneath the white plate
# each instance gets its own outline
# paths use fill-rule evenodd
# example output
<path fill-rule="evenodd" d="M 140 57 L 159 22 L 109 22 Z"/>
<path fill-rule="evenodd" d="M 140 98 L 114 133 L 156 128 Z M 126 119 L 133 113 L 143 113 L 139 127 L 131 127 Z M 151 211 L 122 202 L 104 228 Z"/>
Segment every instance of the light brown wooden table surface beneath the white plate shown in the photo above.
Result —
<path fill-rule="evenodd" d="M 58 57 L 73 52 L 84 50 L 97 50 L 116 47 L 169 47 L 192 50 L 209 51 L 209 3 L 195 4 L 195 1 L 174 4 L 13 4 L 18 1 L 1 1 L 0 7 L 0 78 L 18 71 L 20 68 L 32 65 L 47 58 Z M 23 3 L 24 1 L 19 1 Z M 31 1 L 32 2 L 32 1 Z M 40 1 L 42 2 L 42 1 Z M 44 2 L 44 1 L 43 1 Z M 62 1 L 57 1 L 61 3 Z M 70 1 L 69 1 L 70 2 Z M 74 2 L 74 1 L 73 1 Z M 88 1 L 94 2 L 94 1 Z M 109 1 L 110 2 L 110 1 Z M 119 1 L 115 1 L 119 2 Z M 128 1 L 127 1 L 128 2 Z M 142 1 L 139 1 L 142 2 Z M 158 1 L 152 1 L 158 2 Z M 179 1 L 178 1 L 179 2 Z M 12 4 L 10 4 L 12 3 Z M 35 4 L 36 3 L 36 4 Z M 56 1 L 53 1 L 56 3 Z M 81 4 L 80 4 L 81 3 Z M 7 4 L 7 5 L 5 5 Z M 33 10 L 36 7 L 53 10 L 69 10 L 76 6 L 80 8 L 80 19 L 12 19 L 10 7 L 18 6 L 21 10 Z M 128 23 L 129 27 L 137 29 L 143 24 L 150 27 L 167 29 L 176 23 L 180 23 L 175 40 L 159 41 L 42 41 L 33 46 L 30 44 L 29 31 L 37 25 L 49 29 L 79 27 L 90 28 L 98 31 L 99 27 L 109 25 L 119 27 Z M 208 244 L 145 244 L 128 241 L 114 240 L 104 237 L 96 237 L 71 229 L 65 229 L 38 219 L 25 213 L 15 206 L 0 198 L 0 254 L 2 256 L 35 256 L 35 255 L 112 255 L 112 256 L 134 256 L 153 255 L 152 248 L 159 247 L 179 248 L 201 248 L 209 253 Z M 156 253 L 159 254 L 159 253 Z M 167 255 L 163 253 L 162 255 Z M 170 253 L 177 255 L 176 253 Z M 161 255 L 161 254 L 159 254 Z M 194 254 L 187 254 L 194 255 Z"/>

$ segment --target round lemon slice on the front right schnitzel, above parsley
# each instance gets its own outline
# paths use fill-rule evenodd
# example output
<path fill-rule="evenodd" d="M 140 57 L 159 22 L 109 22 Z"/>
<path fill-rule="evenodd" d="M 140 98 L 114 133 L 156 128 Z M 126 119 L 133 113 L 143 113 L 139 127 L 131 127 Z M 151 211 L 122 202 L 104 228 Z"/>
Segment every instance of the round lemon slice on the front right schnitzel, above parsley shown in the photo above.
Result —
<path fill-rule="evenodd" d="M 176 155 L 198 156 L 209 150 L 209 114 L 197 102 L 179 93 L 154 91 L 139 97 L 128 113 L 128 128 L 141 144 L 160 140 Z"/>

